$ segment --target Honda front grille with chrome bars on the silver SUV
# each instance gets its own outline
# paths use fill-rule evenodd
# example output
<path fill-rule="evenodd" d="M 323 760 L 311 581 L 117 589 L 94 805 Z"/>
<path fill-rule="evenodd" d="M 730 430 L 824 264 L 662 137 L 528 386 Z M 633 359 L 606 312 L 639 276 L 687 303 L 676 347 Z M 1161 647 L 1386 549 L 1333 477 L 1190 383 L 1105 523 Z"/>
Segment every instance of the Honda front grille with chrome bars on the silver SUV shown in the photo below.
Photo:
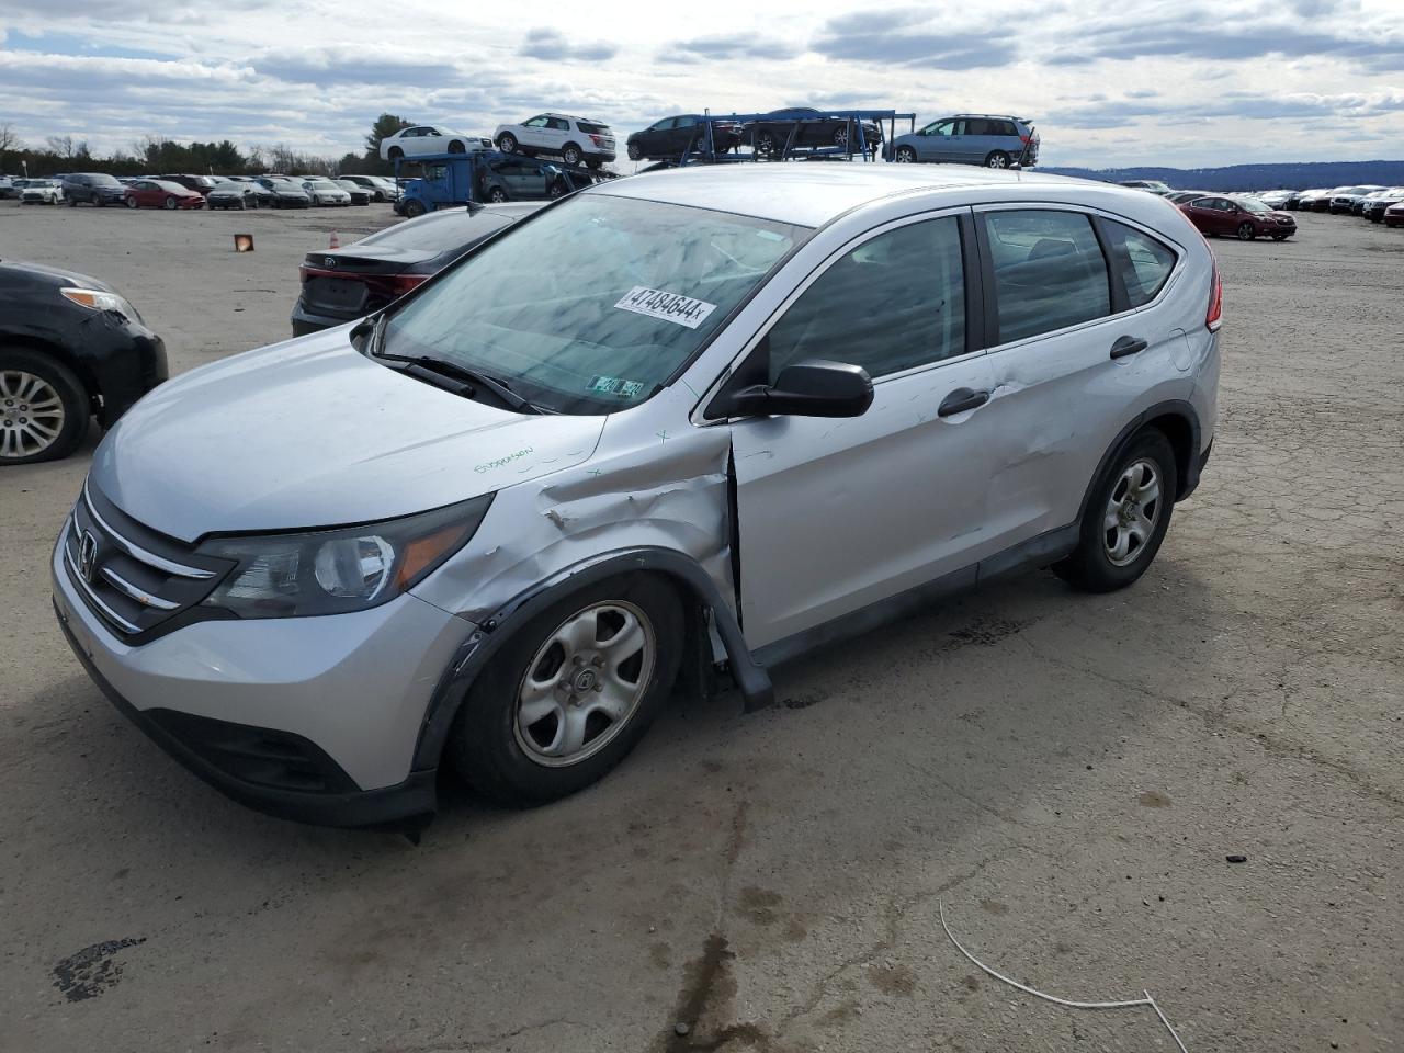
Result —
<path fill-rule="evenodd" d="M 233 567 L 140 525 L 87 484 L 62 548 L 74 588 L 131 643 L 174 628 Z"/>

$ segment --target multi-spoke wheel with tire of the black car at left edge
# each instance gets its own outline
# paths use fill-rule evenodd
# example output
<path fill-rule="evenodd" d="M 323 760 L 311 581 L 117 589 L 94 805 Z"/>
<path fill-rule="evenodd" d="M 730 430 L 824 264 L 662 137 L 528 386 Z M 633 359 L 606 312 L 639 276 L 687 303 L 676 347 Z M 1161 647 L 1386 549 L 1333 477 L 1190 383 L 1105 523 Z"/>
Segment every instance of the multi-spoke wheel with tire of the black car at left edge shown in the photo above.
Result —
<path fill-rule="evenodd" d="M 35 390 L 35 383 L 42 388 Z M 34 396 L 39 402 L 24 402 Z M 34 416 L 32 406 L 41 413 Z M 83 442 L 91 416 L 87 390 L 63 362 L 27 348 L 0 348 L 0 465 L 66 458 Z"/>

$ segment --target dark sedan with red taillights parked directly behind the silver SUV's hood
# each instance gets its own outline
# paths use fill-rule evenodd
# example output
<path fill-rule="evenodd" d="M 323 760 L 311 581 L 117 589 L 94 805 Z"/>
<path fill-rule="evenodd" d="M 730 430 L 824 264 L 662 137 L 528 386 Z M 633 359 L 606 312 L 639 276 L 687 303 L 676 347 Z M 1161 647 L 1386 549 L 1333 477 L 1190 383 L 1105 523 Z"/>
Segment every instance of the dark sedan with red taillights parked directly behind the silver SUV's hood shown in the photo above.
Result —
<path fill-rule="evenodd" d="M 341 249 L 307 253 L 298 268 L 302 293 L 292 309 L 292 334 L 344 326 L 379 310 L 541 206 L 518 202 L 441 209 Z"/>

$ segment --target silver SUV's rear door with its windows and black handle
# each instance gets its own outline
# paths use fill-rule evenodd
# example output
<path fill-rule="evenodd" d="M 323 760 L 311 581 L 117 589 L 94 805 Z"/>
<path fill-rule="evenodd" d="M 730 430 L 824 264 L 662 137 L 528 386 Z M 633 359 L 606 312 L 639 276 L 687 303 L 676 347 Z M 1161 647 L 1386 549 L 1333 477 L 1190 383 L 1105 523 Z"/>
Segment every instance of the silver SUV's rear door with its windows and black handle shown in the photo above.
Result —
<path fill-rule="evenodd" d="M 994 300 L 987 529 L 1002 549 L 1077 521 L 1129 403 L 1175 378 L 1188 348 L 1184 331 L 1147 306 L 1177 264 L 1170 246 L 1104 218 L 1099 234 L 1090 213 L 1066 206 L 976 215 Z M 1112 358 L 1130 341 L 1146 345 Z"/>

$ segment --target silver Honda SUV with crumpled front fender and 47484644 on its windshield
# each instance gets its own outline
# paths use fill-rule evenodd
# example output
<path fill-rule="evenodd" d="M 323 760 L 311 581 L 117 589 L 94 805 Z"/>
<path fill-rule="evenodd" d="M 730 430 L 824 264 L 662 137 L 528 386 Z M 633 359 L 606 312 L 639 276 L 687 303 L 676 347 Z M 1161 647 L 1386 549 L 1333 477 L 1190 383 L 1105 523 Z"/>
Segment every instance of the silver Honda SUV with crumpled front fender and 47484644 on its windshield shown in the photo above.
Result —
<path fill-rule="evenodd" d="M 80 661 L 254 807 L 420 823 L 614 768 L 677 689 L 1018 567 L 1133 583 L 1214 428 L 1213 257 L 1056 177 L 616 180 L 190 372 L 53 552 Z"/>

